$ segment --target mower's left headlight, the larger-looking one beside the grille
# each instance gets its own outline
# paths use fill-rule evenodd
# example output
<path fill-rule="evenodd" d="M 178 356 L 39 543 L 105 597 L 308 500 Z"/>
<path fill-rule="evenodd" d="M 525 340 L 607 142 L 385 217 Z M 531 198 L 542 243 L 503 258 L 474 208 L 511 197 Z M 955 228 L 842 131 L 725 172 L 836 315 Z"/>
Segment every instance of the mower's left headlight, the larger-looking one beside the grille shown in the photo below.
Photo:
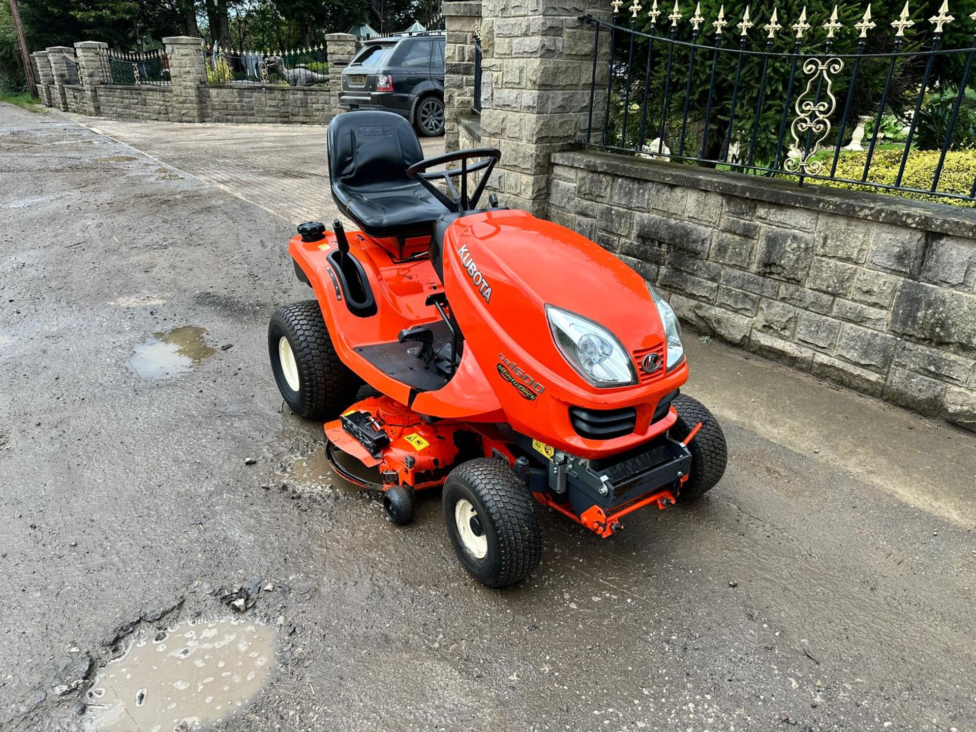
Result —
<path fill-rule="evenodd" d="M 606 328 L 582 315 L 546 307 L 549 329 L 559 352 L 593 386 L 637 383 L 630 354 Z"/>

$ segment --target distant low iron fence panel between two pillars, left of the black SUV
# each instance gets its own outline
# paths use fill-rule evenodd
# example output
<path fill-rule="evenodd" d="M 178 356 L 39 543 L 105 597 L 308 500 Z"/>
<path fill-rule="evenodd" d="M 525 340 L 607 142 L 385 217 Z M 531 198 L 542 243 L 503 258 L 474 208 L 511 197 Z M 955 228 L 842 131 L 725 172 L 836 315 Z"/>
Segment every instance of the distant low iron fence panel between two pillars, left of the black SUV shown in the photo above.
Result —
<path fill-rule="evenodd" d="M 329 81 L 325 46 L 295 51 L 204 50 L 210 84 L 278 84 L 309 87 Z"/>

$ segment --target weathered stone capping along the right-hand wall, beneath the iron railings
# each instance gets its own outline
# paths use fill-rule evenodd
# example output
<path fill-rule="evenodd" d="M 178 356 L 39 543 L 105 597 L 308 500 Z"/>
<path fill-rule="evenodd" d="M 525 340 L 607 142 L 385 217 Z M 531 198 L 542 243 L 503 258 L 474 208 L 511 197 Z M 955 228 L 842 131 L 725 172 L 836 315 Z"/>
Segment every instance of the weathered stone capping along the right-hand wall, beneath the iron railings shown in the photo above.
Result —
<path fill-rule="evenodd" d="M 714 193 L 751 198 L 767 203 L 823 211 L 879 224 L 925 229 L 953 236 L 976 238 L 976 210 L 943 203 L 869 193 L 826 185 L 798 186 L 782 179 L 712 171 L 700 166 L 596 150 L 570 150 L 552 156 L 555 164 L 570 165 L 610 175 L 654 183 L 698 188 Z"/>

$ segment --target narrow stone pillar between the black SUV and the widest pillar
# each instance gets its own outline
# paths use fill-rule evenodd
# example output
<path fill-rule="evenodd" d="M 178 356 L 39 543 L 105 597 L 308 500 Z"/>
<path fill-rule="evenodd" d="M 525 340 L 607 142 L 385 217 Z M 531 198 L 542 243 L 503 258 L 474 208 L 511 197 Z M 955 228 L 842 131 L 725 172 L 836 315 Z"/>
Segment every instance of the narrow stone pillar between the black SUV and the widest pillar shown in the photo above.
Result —
<path fill-rule="evenodd" d="M 473 113 L 474 34 L 481 20 L 481 0 L 441 6 L 444 46 L 444 147 L 458 149 L 458 120 Z"/>

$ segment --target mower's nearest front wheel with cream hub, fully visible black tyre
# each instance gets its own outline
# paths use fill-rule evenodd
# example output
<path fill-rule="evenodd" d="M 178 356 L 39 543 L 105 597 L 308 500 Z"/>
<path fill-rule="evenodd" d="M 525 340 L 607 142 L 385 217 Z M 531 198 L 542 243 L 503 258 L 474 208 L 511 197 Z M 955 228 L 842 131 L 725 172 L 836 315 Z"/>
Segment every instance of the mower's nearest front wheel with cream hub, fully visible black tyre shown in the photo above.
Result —
<path fill-rule="evenodd" d="M 542 534 L 532 498 L 504 462 L 478 458 L 451 470 L 443 508 L 458 558 L 484 585 L 514 585 L 539 564 Z"/>

